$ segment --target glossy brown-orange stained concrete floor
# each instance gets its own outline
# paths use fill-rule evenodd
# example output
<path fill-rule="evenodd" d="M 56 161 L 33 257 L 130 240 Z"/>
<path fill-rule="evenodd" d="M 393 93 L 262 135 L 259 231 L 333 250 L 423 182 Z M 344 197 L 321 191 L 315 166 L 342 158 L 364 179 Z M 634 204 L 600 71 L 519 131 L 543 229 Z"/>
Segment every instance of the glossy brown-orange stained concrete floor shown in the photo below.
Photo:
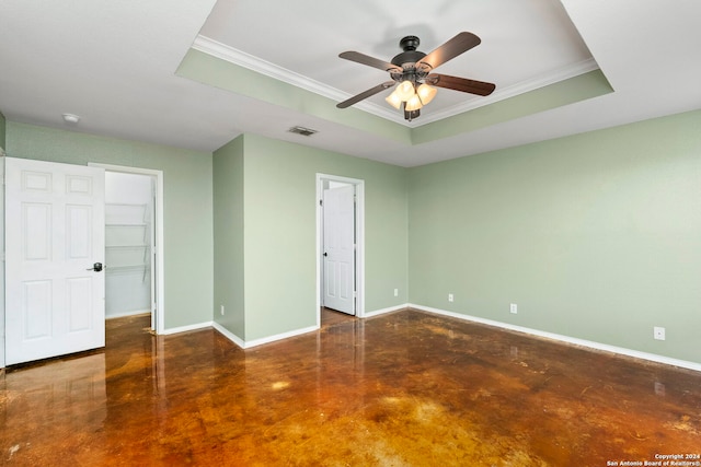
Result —
<path fill-rule="evenodd" d="M 110 320 L 106 349 L 0 375 L 0 465 L 700 460 L 689 370 L 417 311 L 245 351 L 211 329 L 146 326 Z"/>

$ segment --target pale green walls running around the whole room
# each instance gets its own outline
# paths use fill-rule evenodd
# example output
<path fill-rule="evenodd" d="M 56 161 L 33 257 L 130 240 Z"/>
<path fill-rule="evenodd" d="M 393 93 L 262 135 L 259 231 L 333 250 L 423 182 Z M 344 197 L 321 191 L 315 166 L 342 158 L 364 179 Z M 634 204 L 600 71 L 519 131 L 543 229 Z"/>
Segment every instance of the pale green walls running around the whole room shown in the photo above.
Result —
<path fill-rule="evenodd" d="M 163 171 L 166 328 L 214 318 L 252 341 L 315 325 L 325 173 L 366 184 L 366 312 L 411 302 L 701 362 L 700 122 L 410 170 L 254 135 L 214 156 L 12 121 L 4 139 L 12 156 Z"/>

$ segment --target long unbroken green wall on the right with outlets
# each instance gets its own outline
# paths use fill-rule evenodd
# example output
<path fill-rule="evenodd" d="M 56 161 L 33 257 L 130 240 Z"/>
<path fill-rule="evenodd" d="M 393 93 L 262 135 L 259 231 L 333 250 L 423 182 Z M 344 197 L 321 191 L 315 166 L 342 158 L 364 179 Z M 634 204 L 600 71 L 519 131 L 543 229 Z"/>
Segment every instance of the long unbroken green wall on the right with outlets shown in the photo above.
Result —
<path fill-rule="evenodd" d="M 410 170 L 410 301 L 701 362 L 700 124 L 692 112 Z"/>

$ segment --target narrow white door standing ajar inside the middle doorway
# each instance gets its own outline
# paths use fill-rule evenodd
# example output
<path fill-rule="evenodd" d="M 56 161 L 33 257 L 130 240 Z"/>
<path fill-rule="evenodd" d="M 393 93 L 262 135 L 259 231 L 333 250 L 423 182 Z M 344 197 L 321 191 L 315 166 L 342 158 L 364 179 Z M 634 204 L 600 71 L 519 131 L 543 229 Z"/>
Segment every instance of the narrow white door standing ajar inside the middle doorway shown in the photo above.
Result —
<path fill-rule="evenodd" d="M 355 315 L 355 186 L 325 189 L 324 306 Z"/>

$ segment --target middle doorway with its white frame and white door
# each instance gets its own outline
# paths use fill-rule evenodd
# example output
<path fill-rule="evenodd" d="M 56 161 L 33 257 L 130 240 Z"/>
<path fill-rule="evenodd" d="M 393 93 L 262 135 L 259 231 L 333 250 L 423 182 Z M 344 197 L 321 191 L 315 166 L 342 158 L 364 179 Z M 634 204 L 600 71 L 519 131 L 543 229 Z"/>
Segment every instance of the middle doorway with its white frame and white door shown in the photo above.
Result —
<path fill-rule="evenodd" d="M 321 308 L 365 313 L 365 182 L 317 174 L 317 325 Z"/>

